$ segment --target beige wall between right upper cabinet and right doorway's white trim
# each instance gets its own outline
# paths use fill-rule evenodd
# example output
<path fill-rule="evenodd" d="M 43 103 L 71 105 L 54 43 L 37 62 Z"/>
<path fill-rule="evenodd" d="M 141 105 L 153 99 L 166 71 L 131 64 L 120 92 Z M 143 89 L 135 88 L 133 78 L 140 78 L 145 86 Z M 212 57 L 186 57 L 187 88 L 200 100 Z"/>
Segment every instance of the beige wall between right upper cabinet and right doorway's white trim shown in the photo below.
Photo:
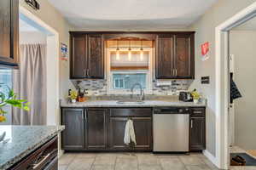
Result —
<path fill-rule="evenodd" d="M 200 20 L 197 20 L 190 30 L 195 33 L 195 82 L 191 88 L 199 88 L 208 99 L 207 107 L 207 150 L 215 156 L 215 27 L 229 19 L 234 14 L 246 8 L 255 0 L 218 0 L 212 8 L 207 10 Z M 200 45 L 210 42 L 210 59 L 202 61 Z M 210 76 L 211 82 L 207 85 L 200 84 L 200 77 Z"/>

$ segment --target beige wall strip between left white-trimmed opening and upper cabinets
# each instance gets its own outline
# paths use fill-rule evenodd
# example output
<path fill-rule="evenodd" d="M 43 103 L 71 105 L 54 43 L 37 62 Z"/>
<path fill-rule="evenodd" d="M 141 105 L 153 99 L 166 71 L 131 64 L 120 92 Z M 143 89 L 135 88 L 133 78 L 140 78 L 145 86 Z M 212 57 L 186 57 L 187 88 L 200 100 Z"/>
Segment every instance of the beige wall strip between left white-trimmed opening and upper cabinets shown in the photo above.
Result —
<path fill-rule="evenodd" d="M 60 42 L 67 44 L 69 47 L 69 33 L 73 27 L 70 26 L 61 14 L 49 4 L 48 0 L 38 0 L 40 10 L 35 11 L 28 6 L 25 1 L 20 1 L 20 5 L 35 14 L 46 24 L 58 31 Z M 68 50 L 69 51 L 69 50 Z M 73 88 L 72 82 L 69 81 L 69 62 L 60 60 L 60 99 L 67 96 L 68 88 Z"/>

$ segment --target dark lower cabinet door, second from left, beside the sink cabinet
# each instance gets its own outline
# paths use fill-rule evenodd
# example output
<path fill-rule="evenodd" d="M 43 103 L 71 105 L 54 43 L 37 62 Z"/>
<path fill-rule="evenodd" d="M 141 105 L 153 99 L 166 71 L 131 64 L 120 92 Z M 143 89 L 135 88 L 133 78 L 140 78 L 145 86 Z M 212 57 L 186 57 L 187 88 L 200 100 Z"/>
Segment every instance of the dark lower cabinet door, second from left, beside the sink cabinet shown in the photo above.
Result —
<path fill-rule="evenodd" d="M 108 109 L 88 109 L 85 116 L 87 149 L 108 149 Z"/>

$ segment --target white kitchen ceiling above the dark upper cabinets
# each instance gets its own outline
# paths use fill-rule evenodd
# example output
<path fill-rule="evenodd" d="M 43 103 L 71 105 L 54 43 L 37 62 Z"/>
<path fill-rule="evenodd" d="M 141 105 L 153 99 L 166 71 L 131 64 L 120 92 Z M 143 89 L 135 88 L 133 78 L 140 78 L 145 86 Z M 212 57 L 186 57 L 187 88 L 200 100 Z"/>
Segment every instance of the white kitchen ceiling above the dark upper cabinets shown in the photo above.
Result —
<path fill-rule="evenodd" d="M 49 0 L 76 29 L 185 28 L 217 0 Z"/>

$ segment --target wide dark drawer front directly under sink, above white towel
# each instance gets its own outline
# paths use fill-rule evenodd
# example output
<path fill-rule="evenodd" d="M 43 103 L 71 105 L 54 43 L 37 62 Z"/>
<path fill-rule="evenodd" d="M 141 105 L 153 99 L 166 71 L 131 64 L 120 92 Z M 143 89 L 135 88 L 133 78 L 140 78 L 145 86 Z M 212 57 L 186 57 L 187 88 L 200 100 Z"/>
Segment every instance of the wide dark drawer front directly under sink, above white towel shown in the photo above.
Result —
<path fill-rule="evenodd" d="M 113 117 L 124 117 L 124 116 L 148 117 L 148 116 L 152 116 L 152 109 L 151 108 L 115 108 L 115 109 L 110 109 L 110 116 L 113 116 Z"/>

